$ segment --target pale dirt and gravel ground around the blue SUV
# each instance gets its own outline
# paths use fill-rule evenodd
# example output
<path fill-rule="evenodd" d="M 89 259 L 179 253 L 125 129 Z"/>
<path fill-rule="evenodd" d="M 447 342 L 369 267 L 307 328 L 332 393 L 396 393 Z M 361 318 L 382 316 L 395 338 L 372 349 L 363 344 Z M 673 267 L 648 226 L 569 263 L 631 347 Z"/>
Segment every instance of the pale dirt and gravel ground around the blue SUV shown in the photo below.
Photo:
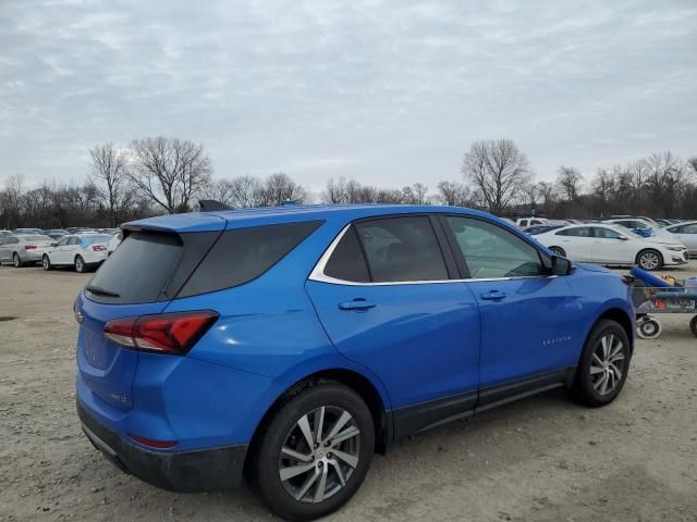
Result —
<path fill-rule="evenodd" d="M 271 520 L 244 488 L 159 490 L 93 449 L 72 312 L 88 277 L 0 268 L 0 316 L 16 318 L 0 321 L 0 521 Z M 661 319 L 612 405 L 555 390 L 404 440 L 327 520 L 697 521 L 697 338 L 687 315 Z"/>

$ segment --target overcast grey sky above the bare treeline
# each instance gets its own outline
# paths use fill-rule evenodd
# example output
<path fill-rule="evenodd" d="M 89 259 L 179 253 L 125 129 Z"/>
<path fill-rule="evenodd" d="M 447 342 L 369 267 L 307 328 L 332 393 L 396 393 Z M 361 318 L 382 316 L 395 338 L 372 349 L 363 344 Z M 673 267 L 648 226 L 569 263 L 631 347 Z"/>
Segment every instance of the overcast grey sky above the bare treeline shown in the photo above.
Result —
<path fill-rule="evenodd" d="M 538 178 L 694 156 L 697 2 L 0 0 L 0 177 L 157 135 L 314 190 L 435 188 L 478 139 Z"/>

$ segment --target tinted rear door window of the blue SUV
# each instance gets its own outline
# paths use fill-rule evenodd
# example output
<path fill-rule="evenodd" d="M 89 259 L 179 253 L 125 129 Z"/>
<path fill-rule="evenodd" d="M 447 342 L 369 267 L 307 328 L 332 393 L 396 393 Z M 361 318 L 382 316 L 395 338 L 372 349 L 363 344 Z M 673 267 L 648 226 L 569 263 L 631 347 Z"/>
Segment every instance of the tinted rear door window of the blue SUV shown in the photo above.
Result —
<path fill-rule="evenodd" d="M 376 283 L 448 279 L 430 220 L 391 217 L 356 224 Z"/>

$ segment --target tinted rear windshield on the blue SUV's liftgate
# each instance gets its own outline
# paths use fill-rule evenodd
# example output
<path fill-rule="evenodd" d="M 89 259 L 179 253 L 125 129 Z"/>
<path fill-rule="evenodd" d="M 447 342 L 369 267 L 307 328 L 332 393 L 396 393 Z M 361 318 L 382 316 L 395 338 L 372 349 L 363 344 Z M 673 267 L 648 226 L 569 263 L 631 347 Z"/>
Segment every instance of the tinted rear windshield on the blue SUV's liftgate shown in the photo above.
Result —
<path fill-rule="evenodd" d="M 157 301 L 182 250 L 182 241 L 174 234 L 134 232 L 114 250 L 89 285 L 118 294 L 113 302 Z M 96 297 L 112 302 L 112 299 L 102 299 L 105 296 Z"/>

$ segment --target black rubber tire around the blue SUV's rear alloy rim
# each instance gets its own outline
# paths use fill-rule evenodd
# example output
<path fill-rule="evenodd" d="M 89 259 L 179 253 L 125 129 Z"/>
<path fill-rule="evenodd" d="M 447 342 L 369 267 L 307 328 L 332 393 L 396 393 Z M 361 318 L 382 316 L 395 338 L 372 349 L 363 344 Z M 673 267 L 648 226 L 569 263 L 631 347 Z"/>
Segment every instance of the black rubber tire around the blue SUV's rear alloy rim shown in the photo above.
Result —
<path fill-rule="evenodd" d="M 323 420 L 325 410 L 329 411 L 330 409 L 333 409 L 332 411 L 337 412 L 337 414 L 340 411 L 347 412 L 351 415 L 351 420 L 348 421 L 350 424 L 346 425 L 357 428 L 358 435 L 352 437 L 351 440 L 344 440 L 329 448 L 326 447 L 329 443 L 320 440 L 320 444 L 316 444 L 314 449 L 307 449 L 307 437 L 297 431 L 299 430 L 301 421 L 310 420 L 313 422 L 310 437 L 313 440 L 316 437 L 315 428 L 317 425 L 325 426 L 323 430 L 319 430 L 320 435 L 329 437 L 331 435 L 332 418 L 328 415 L 328 423 L 325 425 L 322 421 L 317 422 L 317 417 L 314 413 L 321 410 Z M 337 421 L 334 420 L 333 422 Z M 306 425 L 309 428 L 309 424 Z M 346 504 L 360 487 L 368 473 L 375 451 L 375 426 L 370 410 L 358 394 L 335 382 L 316 383 L 299 391 L 289 394 L 273 411 L 270 419 L 265 422 L 261 430 L 259 439 L 255 440 L 250 448 L 250 460 L 247 463 L 249 485 L 257 497 L 269 506 L 271 511 L 291 521 L 318 519 Z M 344 430 L 347 428 L 342 427 L 338 433 L 344 433 Z M 357 437 L 357 442 L 355 437 Z M 307 458 L 306 452 L 310 452 L 310 460 L 301 461 L 282 458 L 282 455 L 285 453 L 282 453 L 281 449 L 284 446 L 291 447 L 296 443 L 301 445 L 301 448 L 298 449 L 298 446 L 295 446 L 295 448 L 303 457 Z M 344 450 L 350 451 L 350 449 L 342 446 L 344 444 L 353 445 L 351 448 L 353 448 L 358 461 L 348 472 L 345 470 L 340 471 L 344 485 L 332 493 L 330 488 L 333 487 L 335 489 L 341 485 L 335 470 L 337 464 L 332 463 L 330 467 L 329 461 L 327 461 L 327 464 L 323 461 L 331 458 L 333 459 L 332 462 L 341 463 L 344 467 L 348 465 L 331 453 L 333 447 L 335 449 L 342 448 L 343 455 L 346 455 Z M 306 449 L 303 450 L 302 445 Z M 309 465 L 309 469 L 293 478 L 282 481 L 281 467 L 288 469 L 296 464 Z M 315 499 L 307 499 L 305 495 L 310 497 L 313 494 L 316 495 L 321 485 L 321 482 L 318 481 L 321 481 L 321 478 L 316 478 L 309 489 L 303 494 L 304 486 L 306 486 L 307 482 L 310 482 L 310 474 L 318 476 L 322 472 L 326 476 L 326 488 L 322 488 L 322 495 L 328 492 L 328 498 L 314 504 Z M 296 481 L 295 484 L 293 484 L 293 481 Z M 301 495 L 301 500 L 297 500 L 292 494 Z"/>

